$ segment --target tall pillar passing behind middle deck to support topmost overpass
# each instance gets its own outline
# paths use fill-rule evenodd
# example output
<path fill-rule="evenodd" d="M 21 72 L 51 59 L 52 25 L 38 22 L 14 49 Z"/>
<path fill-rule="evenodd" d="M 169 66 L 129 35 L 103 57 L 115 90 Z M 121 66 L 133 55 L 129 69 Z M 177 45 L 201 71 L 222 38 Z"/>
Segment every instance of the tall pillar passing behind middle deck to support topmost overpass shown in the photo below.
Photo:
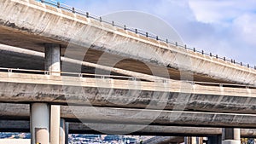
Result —
<path fill-rule="evenodd" d="M 59 44 L 45 44 L 44 68 L 49 75 L 61 75 L 61 47 Z M 60 144 L 61 107 L 50 107 L 50 144 Z"/>

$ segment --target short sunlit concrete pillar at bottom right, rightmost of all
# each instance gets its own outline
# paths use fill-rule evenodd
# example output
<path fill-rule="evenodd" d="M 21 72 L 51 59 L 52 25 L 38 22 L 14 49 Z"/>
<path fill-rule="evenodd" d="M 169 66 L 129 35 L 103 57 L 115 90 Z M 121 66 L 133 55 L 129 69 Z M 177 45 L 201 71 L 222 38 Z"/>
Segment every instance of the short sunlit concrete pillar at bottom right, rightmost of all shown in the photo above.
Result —
<path fill-rule="evenodd" d="M 222 129 L 222 144 L 241 144 L 240 129 Z"/>

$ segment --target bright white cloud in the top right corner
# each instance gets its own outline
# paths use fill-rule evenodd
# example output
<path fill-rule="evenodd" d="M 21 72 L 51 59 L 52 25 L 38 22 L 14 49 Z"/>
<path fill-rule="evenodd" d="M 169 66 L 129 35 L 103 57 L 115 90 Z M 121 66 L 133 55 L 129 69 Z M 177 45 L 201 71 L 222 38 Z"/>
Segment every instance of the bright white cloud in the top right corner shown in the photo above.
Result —
<path fill-rule="evenodd" d="M 240 14 L 255 10 L 253 0 L 189 0 L 196 20 L 205 23 L 229 23 Z"/>

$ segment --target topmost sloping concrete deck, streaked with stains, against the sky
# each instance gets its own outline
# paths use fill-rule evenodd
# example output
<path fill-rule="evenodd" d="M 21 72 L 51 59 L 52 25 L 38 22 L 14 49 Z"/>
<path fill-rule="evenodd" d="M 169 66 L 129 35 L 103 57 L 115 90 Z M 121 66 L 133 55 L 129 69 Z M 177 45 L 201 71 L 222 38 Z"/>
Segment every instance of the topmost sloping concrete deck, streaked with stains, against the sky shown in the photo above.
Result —
<path fill-rule="evenodd" d="M 67 43 L 75 43 L 90 49 L 90 54 L 86 55 L 88 61 L 96 62 L 102 52 L 107 54 L 107 66 L 121 57 L 128 60 L 120 63 L 119 67 L 132 71 L 151 73 L 142 62 L 136 62 L 141 60 L 156 67 L 171 67 L 169 74 L 175 77 L 180 72 L 174 70 L 180 69 L 195 73 L 199 81 L 214 78 L 232 83 L 256 84 L 256 71 L 253 69 L 195 54 L 33 0 L 2 0 L 0 8 L 0 43 L 38 51 L 43 51 L 43 43 L 58 43 L 63 48 Z M 76 33 L 83 38 L 75 37 Z M 73 51 L 76 57 L 81 56 L 79 50 Z M 161 75 L 161 71 L 158 73 Z"/>

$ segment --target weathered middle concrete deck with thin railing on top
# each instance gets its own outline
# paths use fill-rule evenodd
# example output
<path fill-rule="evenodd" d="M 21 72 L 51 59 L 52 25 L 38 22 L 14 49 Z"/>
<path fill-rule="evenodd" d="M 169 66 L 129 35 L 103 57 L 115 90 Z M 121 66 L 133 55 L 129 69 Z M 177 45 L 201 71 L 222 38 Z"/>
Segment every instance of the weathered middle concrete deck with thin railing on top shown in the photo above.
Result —
<path fill-rule="evenodd" d="M 256 89 L 178 81 L 154 83 L 0 72 L 0 87 L 2 102 L 243 113 L 255 113 L 256 107 Z"/>

